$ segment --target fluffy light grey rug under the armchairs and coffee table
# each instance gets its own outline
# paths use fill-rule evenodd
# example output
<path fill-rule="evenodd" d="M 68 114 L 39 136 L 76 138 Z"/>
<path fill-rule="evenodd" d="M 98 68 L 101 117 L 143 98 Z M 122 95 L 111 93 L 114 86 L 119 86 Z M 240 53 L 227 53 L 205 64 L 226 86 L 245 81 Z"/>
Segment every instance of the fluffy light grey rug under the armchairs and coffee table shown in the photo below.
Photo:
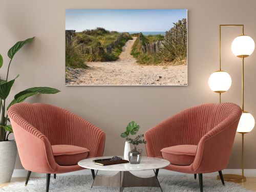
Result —
<path fill-rule="evenodd" d="M 159 182 L 163 191 L 172 192 L 185 192 L 185 191 L 196 191 L 199 192 L 199 181 L 194 179 L 194 177 L 189 176 L 159 176 Z M 56 180 L 51 178 L 50 191 L 51 192 L 96 192 L 96 191 L 106 191 L 114 192 L 118 191 L 117 188 L 112 187 L 99 187 L 95 186 L 91 189 L 92 176 L 90 175 L 76 175 L 76 176 L 58 176 Z M 204 182 L 204 192 L 251 192 L 251 190 L 245 189 L 238 184 L 226 182 L 223 186 L 220 180 L 214 178 L 203 178 Z M 24 186 L 24 182 L 16 182 L 10 184 L 6 187 L 0 188 L 0 191 L 8 192 L 44 192 L 46 190 L 46 178 L 31 179 L 28 186 Z M 123 191 L 161 191 L 160 188 L 154 187 L 131 187 L 124 188 Z"/>

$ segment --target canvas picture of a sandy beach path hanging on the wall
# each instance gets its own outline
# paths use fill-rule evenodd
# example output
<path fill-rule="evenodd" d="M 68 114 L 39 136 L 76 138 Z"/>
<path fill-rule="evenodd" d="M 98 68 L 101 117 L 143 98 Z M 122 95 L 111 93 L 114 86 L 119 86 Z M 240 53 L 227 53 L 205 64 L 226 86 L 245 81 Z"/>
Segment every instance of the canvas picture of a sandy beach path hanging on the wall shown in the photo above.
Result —
<path fill-rule="evenodd" d="M 67 9 L 66 85 L 187 85 L 186 9 Z"/>

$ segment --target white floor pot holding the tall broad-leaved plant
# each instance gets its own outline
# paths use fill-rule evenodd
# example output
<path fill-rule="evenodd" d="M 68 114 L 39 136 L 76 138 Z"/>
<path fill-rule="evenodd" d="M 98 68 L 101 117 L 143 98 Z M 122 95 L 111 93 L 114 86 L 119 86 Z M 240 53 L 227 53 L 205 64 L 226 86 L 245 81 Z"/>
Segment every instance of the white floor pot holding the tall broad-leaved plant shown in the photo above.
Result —
<path fill-rule="evenodd" d="M 0 183 L 10 182 L 17 156 L 15 141 L 0 141 Z"/>

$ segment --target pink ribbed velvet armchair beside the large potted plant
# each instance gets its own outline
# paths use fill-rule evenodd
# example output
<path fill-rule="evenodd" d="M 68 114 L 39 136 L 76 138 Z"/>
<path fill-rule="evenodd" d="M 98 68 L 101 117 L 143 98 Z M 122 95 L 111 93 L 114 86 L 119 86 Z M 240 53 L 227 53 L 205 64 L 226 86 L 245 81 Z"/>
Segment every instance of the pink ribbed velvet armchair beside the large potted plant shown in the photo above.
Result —
<path fill-rule="evenodd" d="M 78 161 L 103 155 L 105 133 L 90 122 L 57 106 L 17 103 L 8 115 L 13 127 L 20 161 L 28 176 L 46 173 L 46 191 L 51 174 L 83 169 Z M 94 177 L 94 170 L 92 170 Z"/>

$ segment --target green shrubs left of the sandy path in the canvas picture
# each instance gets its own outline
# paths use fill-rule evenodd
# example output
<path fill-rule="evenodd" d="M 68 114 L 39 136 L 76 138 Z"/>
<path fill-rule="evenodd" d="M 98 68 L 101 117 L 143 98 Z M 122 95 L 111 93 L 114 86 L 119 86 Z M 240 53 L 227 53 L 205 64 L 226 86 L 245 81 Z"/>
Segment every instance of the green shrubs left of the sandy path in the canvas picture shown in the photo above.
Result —
<path fill-rule="evenodd" d="M 120 43 L 114 46 L 114 42 L 121 35 Z M 114 61 L 122 52 L 122 47 L 126 41 L 132 39 L 129 33 L 118 33 L 116 31 L 108 31 L 103 28 L 93 30 L 84 30 L 77 32 L 71 45 L 66 45 L 66 65 L 73 68 L 84 68 L 84 61 Z M 78 48 L 79 45 L 92 48 L 102 47 L 104 52 L 82 54 Z M 106 48 L 112 46 L 112 53 L 107 53 Z M 67 47 L 68 46 L 68 47 Z"/>

